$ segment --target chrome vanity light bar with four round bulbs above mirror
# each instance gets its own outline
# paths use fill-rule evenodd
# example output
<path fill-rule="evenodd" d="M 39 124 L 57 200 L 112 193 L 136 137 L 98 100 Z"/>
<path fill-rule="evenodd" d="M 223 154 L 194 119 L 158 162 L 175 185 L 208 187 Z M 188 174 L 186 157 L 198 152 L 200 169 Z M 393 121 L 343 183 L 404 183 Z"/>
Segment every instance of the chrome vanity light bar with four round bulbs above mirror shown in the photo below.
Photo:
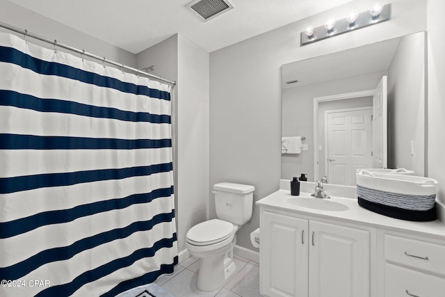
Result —
<path fill-rule="evenodd" d="M 353 12 L 348 17 L 337 21 L 330 19 L 323 26 L 316 28 L 308 26 L 305 31 L 300 33 L 300 46 L 386 22 L 389 19 L 391 19 L 391 4 L 375 4 L 371 10 L 362 13 Z"/>

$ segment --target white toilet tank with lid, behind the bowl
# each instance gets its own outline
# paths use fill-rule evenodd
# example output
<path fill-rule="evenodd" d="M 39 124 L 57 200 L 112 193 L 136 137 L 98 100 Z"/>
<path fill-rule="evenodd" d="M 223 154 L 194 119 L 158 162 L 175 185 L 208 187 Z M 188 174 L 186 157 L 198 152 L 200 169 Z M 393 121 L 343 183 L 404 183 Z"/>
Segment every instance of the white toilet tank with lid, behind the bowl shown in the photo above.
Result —
<path fill-rule="evenodd" d="M 220 220 L 244 225 L 252 218 L 254 186 L 221 182 L 213 186 L 216 216 Z"/>

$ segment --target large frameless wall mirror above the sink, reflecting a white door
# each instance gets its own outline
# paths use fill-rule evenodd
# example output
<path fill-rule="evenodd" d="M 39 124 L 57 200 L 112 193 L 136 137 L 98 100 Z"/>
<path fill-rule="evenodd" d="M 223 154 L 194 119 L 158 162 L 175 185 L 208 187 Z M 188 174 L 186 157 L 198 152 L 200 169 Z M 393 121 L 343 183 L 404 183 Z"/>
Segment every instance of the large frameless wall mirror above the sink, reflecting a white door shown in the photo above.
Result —
<path fill-rule="evenodd" d="M 282 65 L 282 179 L 426 166 L 426 33 Z M 291 145 L 298 145 L 289 150 Z"/>

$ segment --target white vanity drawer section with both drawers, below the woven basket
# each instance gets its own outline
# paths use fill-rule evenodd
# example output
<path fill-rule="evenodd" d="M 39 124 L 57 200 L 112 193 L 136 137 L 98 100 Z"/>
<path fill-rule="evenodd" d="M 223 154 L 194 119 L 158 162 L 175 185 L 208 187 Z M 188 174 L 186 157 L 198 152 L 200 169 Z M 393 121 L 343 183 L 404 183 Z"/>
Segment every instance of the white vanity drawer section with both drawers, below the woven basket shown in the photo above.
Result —
<path fill-rule="evenodd" d="M 383 233 L 380 269 L 386 297 L 445 296 L 445 246 L 440 241 Z"/>

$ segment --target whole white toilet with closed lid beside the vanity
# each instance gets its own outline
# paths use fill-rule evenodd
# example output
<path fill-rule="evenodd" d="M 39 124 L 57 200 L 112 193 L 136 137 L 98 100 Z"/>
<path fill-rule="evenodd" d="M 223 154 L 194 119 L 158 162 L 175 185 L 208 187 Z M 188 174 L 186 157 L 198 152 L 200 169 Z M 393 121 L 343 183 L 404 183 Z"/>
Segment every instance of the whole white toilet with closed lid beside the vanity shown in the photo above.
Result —
<path fill-rule="evenodd" d="M 236 231 L 252 217 L 254 186 L 221 182 L 213 186 L 216 217 L 199 223 L 186 234 L 186 248 L 200 258 L 197 287 L 213 291 L 235 273 Z"/>

